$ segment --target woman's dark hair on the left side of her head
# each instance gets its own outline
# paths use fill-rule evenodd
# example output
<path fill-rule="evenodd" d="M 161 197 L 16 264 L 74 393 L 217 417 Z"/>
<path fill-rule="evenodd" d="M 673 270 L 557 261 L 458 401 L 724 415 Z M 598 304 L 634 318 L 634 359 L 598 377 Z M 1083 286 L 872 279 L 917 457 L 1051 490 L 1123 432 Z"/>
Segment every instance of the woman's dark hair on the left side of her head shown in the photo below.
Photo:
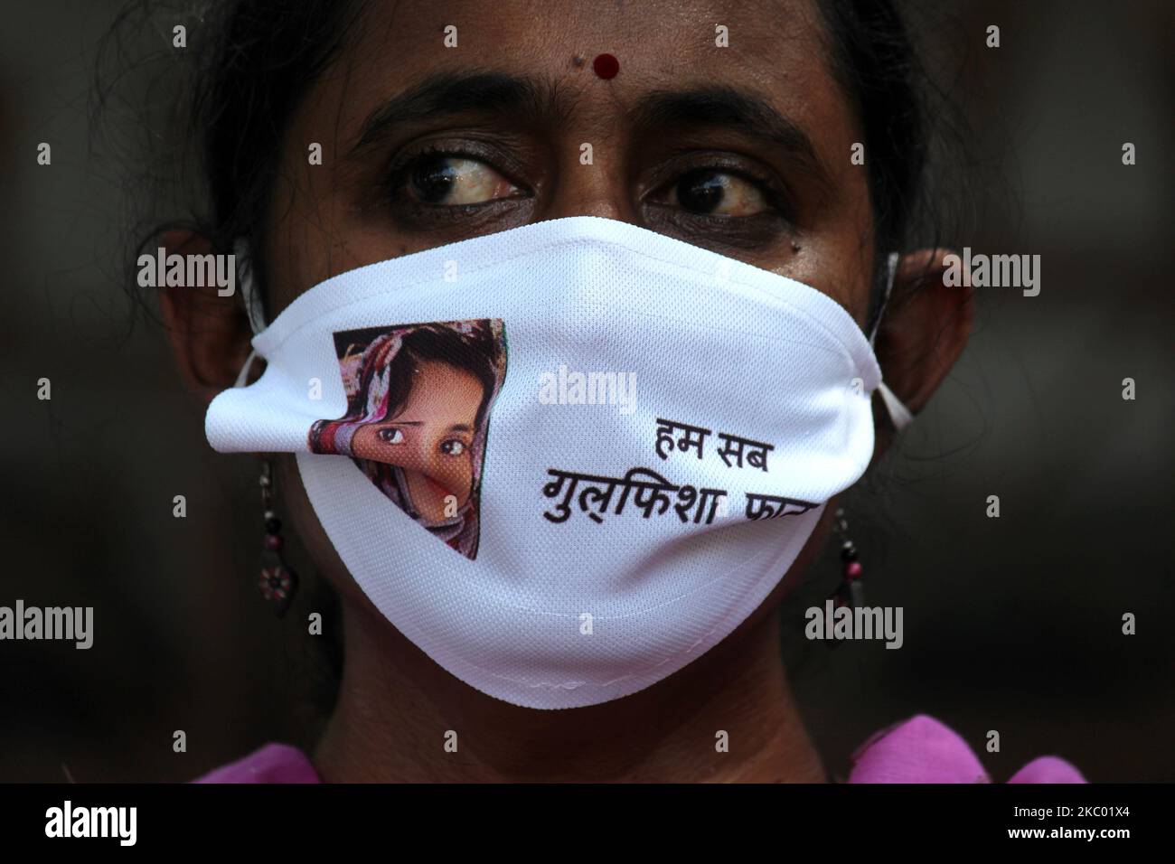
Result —
<path fill-rule="evenodd" d="M 173 228 L 207 237 L 217 253 L 233 252 L 239 237 L 251 249 L 264 248 L 282 136 L 307 91 L 338 55 L 364 4 L 208 0 L 195 13 L 190 6 L 168 9 L 159 0 L 126 5 L 99 49 L 94 114 L 113 113 L 116 94 L 130 112 L 161 113 L 147 118 L 149 136 L 133 155 L 147 161 L 147 188 L 143 214 L 135 220 L 132 263 Z M 145 61 L 132 60 L 136 38 L 152 33 L 159 39 L 153 31 L 160 20 L 168 27 L 186 22 L 192 41 L 184 49 L 187 62 L 164 65 L 157 52 Z M 149 67 L 142 73 L 146 83 L 128 80 L 140 66 Z M 170 141 L 159 127 L 170 130 Z M 197 168 L 194 178 L 186 173 L 190 167 Z M 159 200 L 172 197 L 189 210 L 187 216 L 159 217 Z M 155 213 L 148 216 L 148 210 Z M 249 263 L 264 308 L 264 255 L 254 255 Z"/>

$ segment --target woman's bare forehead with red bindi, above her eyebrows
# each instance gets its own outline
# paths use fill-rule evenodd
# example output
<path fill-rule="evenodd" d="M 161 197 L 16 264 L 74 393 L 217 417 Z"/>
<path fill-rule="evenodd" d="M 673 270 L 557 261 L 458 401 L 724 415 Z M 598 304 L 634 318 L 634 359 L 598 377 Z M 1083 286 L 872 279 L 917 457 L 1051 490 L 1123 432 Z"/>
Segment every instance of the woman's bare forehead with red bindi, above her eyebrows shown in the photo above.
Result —
<path fill-rule="evenodd" d="M 615 80 L 618 99 L 634 88 L 673 89 L 687 78 L 712 79 L 786 99 L 790 103 L 777 107 L 811 120 L 810 100 L 830 89 L 820 80 L 808 0 L 582 0 L 576 7 L 576 15 L 542 21 L 523 5 L 490 0 L 372 5 L 356 31 L 358 45 L 344 45 L 354 73 L 350 92 L 334 94 L 329 103 L 342 107 L 345 120 L 357 120 L 349 114 L 364 96 L 385 96 L 435 74 L 583 72 L 597 86 Z"/>

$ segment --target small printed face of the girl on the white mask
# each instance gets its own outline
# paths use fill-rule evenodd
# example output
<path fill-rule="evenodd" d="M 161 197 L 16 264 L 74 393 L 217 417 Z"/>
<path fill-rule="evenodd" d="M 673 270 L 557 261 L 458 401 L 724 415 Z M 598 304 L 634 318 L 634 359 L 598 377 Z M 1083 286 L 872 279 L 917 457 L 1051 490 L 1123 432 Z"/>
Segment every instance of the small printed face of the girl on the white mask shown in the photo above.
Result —
<path fill-rule="evenodd" d="M 469 501 L 474 483 L 470 449 L 483 390 L 464 369 L 418 363 L 400 413 L 356 431 L 351 451 L 403 468 L 411 503 L 427 522 L 451 518 Z"/>

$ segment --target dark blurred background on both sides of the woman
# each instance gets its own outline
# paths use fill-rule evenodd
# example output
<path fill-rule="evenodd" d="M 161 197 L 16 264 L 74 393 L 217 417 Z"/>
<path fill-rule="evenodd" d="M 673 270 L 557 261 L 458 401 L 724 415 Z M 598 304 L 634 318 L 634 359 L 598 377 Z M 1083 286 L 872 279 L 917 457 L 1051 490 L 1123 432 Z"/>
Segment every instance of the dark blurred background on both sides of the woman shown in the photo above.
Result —
<path fill-rule="evenodd" d="M 924 35 L 980 179 L 944 189 L 971 222 L 945 239 L 1039 254 L 1042 289 L 979 290 L 954 374 L 845 502 L 868 602 L 905 609 L 904 648 L 803 639 L 804 607 L 835 585 L 828 549 L 784 609 L 781 650 L 838 776 L 871 734 L 929 714 L 995 781 L 1041 754 L 1094 782 L 1173 781 L 1175 7 L 938 6 Z M 296 623 L 315 601 L 283 623 L 256 592 L 255 460 L 208 447 L 161 328 L 128 299 L 145 217 L 132 176 L 149 161 L 136 147 L 156 133 L 133 96 L 93 116 L 121 7 L 18 5 L 0 29 L 0 604 L 95 610 L 88 651 L 0 643 L 0 782 L 187 781 L 269 741 L 309 748 L 329 696 Z M 173 20 L 139 36 L 166 43 Z M 155 75 L 121 85 L 157 100 Z M 52 167 L 36 165 L 41 141 Z M 150 207 L 182 213 L 173 203 Z M 982 752 L 988 730 L 999 754 Z"/>

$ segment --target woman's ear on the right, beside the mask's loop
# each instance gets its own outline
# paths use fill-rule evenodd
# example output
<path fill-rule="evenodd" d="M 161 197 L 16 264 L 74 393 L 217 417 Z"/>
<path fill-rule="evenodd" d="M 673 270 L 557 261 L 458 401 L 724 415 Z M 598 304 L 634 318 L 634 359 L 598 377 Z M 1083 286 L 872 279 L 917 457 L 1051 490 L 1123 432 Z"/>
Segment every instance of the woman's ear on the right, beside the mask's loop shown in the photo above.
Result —
<path fill-rule="evenodd" d="M 944 283 L 949 254 L 921 249 L 901 257 L 874 344 L 886 384 L 914 414 L 931 401 L 971 335 L 971 286 Z"/>

